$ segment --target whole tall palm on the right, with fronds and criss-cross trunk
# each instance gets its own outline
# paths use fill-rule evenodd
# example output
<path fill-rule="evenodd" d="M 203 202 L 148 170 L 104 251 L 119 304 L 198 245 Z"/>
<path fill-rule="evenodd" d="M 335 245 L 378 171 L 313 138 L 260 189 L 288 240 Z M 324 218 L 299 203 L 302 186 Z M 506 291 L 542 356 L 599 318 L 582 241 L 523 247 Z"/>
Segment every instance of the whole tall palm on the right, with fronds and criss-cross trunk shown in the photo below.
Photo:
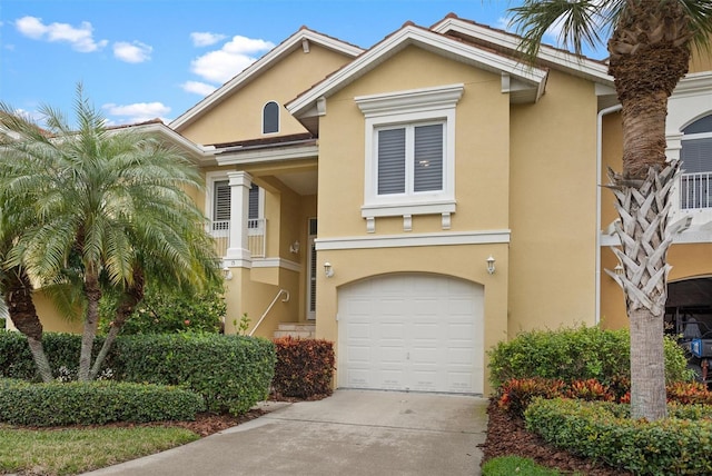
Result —
<path fill-rule="evenodd" d="M 522 51 L 535 61 L 543 36 L 560 27 L 560 41 L 581 53 L 607 37 L 609 73 L 622 106 L 623 170 L 609 171 L 621 217 L 631 327 L 631 414 L 666 416 L 663 321 L 668 298 L 670 190 L 678 162 L 665 159 L 668 98 L 688 72 L 693 47 L 712 33 L 712 0 L 524 0 L 510 9 Z M 610 32 L 610 34 L 605 34 Z"/>

